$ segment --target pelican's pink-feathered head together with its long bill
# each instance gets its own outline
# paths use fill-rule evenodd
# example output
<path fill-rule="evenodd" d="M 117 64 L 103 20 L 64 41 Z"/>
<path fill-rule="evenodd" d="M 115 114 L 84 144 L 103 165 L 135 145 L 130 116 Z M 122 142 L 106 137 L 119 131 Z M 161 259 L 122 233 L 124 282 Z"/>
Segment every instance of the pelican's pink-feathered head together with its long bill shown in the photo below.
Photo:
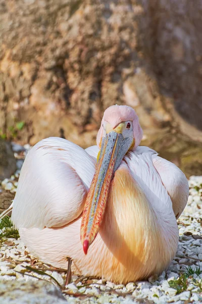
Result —
<path fill-rule="evenodd" d="M 142 129 L 135 110 L 126 105 L 113 105 L 104 112 L 97 133 L 100 148 L 97 168 L 90 185 L 81 222 L 84 253 L 94 241 L 102 224 L 111 181 L 125 154 L 134 150 L 142 139 Z"/>

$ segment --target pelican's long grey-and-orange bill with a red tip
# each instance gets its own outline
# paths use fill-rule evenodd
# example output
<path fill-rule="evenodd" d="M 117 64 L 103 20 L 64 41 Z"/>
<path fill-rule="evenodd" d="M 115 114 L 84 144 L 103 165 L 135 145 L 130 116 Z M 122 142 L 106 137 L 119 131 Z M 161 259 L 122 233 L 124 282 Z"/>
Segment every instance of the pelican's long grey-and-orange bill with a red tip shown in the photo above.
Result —
<path fill-rule="evenodd" d="M 81 243 L 85 254 L 102 224 L 114 173 L 133 143 L 132 137 L 124 139 L 121 133 L 115 131 L 103 137 L 97 168 L 89 188 L 81 221 Z"/>

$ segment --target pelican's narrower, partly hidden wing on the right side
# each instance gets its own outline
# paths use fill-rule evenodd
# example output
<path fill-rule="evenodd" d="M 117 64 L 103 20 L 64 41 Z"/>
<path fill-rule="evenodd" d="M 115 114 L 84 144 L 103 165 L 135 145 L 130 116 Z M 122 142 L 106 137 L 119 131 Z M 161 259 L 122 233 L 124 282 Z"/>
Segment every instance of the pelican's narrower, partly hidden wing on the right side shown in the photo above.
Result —
<path fill-rule="evenodd" d="M 173 211 L 178 218 L 184 210 L 189 196 L 186 176 L 176 165 L 157 155 L 153 156 L 153 164 L 171 197 Z"/>

